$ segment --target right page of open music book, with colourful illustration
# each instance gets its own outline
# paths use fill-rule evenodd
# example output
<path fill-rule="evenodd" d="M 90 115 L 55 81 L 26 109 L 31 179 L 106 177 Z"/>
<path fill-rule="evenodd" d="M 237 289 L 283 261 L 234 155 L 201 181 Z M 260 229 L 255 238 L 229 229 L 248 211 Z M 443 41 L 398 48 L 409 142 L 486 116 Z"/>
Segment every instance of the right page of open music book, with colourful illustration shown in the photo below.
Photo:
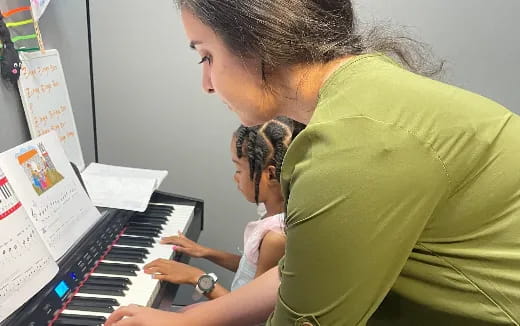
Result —
<path fill-rule="evenodd" d="M 0 168 L 55 260 L 101 217 L 54 131 L 1 153 Z"/>

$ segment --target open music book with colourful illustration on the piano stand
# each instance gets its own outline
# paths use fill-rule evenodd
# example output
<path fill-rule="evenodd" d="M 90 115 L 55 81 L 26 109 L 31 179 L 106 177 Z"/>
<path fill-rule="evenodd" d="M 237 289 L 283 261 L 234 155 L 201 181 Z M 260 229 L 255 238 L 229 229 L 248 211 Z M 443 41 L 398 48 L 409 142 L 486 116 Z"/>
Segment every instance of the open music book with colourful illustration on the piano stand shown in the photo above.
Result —
<path fill-rule="evenodd" d="M 56 133 L 0 154 L 0 322 L 56 275 L 100 216 Z"/>

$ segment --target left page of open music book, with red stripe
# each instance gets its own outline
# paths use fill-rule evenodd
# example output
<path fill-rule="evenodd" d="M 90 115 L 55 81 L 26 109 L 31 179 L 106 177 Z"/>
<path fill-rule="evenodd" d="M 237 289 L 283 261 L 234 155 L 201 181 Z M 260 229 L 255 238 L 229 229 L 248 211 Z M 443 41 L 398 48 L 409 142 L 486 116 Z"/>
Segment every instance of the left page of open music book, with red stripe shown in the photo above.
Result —
<path fill-rule="evenodd" d="M 0 322 L 58 272 L 12 187 L 0 170 Z"/>

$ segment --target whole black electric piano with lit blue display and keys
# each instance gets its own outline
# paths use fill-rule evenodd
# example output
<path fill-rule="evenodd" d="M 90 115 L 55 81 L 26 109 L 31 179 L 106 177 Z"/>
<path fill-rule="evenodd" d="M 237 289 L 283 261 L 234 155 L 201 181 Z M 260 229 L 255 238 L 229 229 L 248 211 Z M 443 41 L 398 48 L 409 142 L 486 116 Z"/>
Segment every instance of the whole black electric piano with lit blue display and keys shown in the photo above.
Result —
<path fill-rule="evenodd" d="M 143 213 L 107 210 L 58 262 L 58 275 L 0 326 L 103 325 L 119 306 L 171 302 L 177 287 L 161 284 L 143 266 L 157 258 L 188 259 L 159 241 L 178 231 L 197 241 L 203 209 L 201 200 L 155 192 Z"/>

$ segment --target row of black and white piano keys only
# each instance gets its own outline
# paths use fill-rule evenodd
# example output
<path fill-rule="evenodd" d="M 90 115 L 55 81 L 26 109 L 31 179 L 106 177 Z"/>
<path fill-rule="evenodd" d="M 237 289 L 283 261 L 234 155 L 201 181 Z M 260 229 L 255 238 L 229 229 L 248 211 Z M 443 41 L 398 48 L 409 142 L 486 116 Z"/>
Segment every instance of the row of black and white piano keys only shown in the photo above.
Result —
<path fill-rule="evenodd" d="M 127 228 L 94 273 L 62 311 L 54 325 L 103 325 L 119 306 L 151 306 L 159 281 L 143 272 L 143 266 L 172 256 L 172 246 L 161 237 L 186 232 L 193 206 L 150 204 L 144 213 L 130 218 Z"/>

